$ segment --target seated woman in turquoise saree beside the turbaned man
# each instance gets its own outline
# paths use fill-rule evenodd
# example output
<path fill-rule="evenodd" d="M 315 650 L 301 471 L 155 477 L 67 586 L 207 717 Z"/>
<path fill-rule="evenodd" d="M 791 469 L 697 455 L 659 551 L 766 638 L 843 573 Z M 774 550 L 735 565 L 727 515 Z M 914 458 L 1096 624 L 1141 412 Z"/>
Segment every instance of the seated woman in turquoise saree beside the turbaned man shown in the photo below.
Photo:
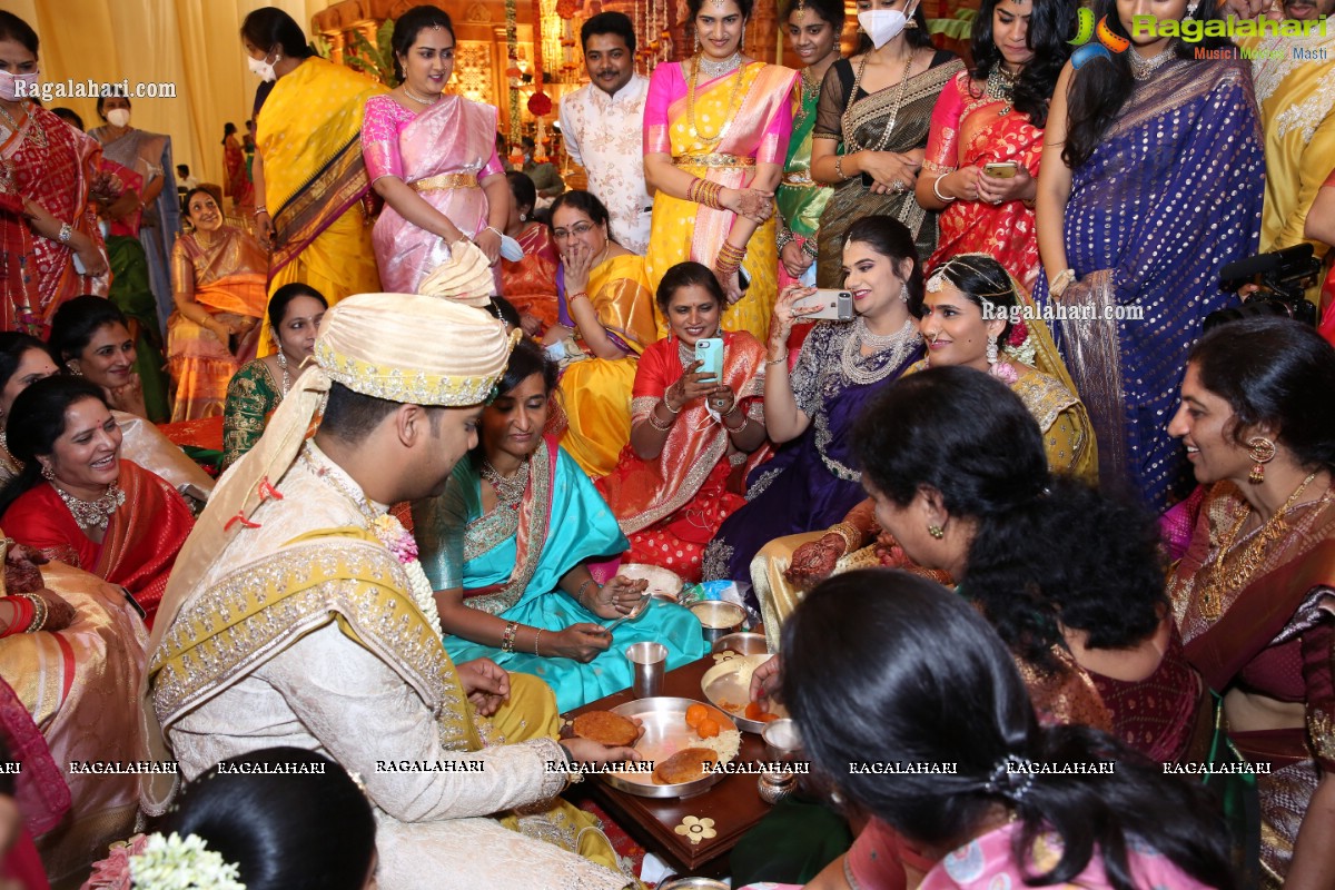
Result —
<path fill-rule="evenodd" d="M 413 504 L 422 567 L 437 591 L 445 648 L 455 662 L 490 658 L 534 674 L 569 711 L 631 681 L 631 643 L 668 647 L 668 670 L 701 658 L 700 622 L 615 574 L 629 542 L 589 476 L 543 436 L 557 368 L 521 342 L 501 395 L 479 420 L 479 446 L 439 498 Z"/>

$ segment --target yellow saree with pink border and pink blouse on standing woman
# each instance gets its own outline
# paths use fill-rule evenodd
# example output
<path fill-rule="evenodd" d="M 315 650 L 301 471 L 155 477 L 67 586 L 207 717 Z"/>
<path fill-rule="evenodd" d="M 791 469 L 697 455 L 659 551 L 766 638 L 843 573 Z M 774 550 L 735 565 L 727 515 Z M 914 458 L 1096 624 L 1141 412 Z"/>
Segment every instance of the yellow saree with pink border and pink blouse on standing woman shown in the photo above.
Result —
<path fill-rule="evenodd" d="M 797 72 L 753 61 L 697 84 L 689 95 L 686 63 L 659 65 L 645 101 L 645 153 L 672 155 L 673 163 L 725 188 L 745 188 L 756 164 L 782 164 L 793 131 Z M 714 267 L 736 215 L 659 192 L 654 197 L 645 266 L 650 290 L 677 263 Z M 750 279 L 742 299 L 724 311 L 724 327 L 764 340 L 778 294 L 778 252 L 770 217 L 746 242 L 742 270 Z M 666 334 L 663 319 L 658 334 Z"/>

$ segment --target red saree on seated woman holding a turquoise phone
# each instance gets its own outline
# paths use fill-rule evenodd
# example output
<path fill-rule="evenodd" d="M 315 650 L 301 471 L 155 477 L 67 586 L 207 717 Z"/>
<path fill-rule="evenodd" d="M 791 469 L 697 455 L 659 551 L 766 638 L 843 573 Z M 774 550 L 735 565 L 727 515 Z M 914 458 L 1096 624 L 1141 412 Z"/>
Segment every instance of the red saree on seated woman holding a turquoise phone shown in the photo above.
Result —
<path fill-rule="evenodd" d="M 753 420 L 765 416 L 765 347 L 745 331 L 724 332 L 724 378 Z M 682 375 L 676 338 L 658 340 L 639 356 L 631 391 L 633 423 L 647 423 L 654 404 Z M 733 462 L 744 463 L 728 432 L 697 400 L 682 408 L 654 460 L 626 446 L 615 470 L 595 484 L 630 539 L 627 562 L 662 566 L 688 582 L 700 580 L 705 544 L 746 503 L 728 491 Z"/>

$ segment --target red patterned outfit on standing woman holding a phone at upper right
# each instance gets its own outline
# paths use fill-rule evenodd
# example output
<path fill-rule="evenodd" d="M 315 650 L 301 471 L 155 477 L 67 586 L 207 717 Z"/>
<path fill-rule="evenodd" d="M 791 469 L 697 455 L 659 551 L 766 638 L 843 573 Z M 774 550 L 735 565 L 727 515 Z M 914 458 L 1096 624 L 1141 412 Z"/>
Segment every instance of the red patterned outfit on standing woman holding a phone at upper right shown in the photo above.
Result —
<path fill-rule="evenodd" d="M 1016 161 L 1039 177 L 1043 131 L 1029 116 L 1005 101 L 989 99 L 961 71 L 941 89 L 932 111 L 932 132 L 926 140 L 922 168 L 948 173 L 961 167 L 983 167 L 996 161 Z M 957 200 L 937 219 L 940 236 L 926 262 L 928 274 L 957 254 L 988 254 L 1007 268 L 1025 290 L 1033 291 L 1039 278 L 1039 239 L 1033 211 L 1024 201 L 993 205 L 987 201 Z"/>

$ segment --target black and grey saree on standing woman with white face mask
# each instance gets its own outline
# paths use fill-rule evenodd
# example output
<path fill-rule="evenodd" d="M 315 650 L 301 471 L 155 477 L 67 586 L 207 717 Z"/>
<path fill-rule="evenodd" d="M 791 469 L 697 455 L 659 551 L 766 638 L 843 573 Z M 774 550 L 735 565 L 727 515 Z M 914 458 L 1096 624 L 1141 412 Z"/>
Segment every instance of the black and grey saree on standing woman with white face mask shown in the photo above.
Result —
<path fill-rule="evenodd" d="M 924 148 L 932 109 L 941 89 L 964 69 L 964 63 L 943 52 L 933 56 L 932 65 L 909 79 L 902 96 L 897 85 L 874 93 L 858 88 L 853 108 L 845 112 L 848 96 L 853 92 L 853 65 L 845 59 L 836 61 L 830 67 L 833 73 L 825 76 L 821 88 L 814 139 L 836 140 L 840 143 L 838 153 L 857 151 L 857 147 L 881 147 L 881 151 L 900 153 Z M 840 88 L 832 89 L 836 84 Z M 850 132 L 844 132 L 845 125 Z M 888 135 L 886 127 L 893 127 Z M 930 256 L 936 250 L 936 213 L 922 209 L 912 189 L 873 195 L 869 179 L 854 176 L 836 185 L 825 204 L 816 260 L 818 287 L 840 287 L 844 283 L 844 240 L 849 227 L 864 216 L 893 216 L 904 223 L 913 235 L 918 256 Z"/>

